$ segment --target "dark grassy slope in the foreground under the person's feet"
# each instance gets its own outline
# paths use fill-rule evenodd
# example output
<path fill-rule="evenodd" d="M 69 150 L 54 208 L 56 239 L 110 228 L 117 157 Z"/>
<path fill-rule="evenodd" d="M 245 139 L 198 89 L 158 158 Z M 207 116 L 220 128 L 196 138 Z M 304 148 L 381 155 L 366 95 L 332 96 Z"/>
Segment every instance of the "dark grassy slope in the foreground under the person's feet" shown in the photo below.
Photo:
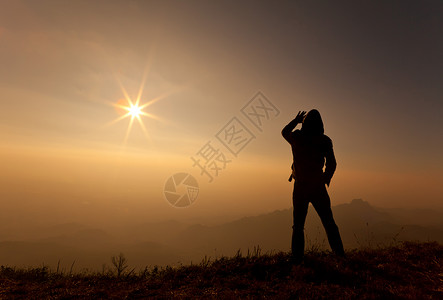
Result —
<path fill-rule="evenodd" d="M 309 252 L 294 266 L 287 253 L 239 254 L 119 278 L 2 267 L 0 298 L 443 299 L 440 244 L 407 242 L 347 256 Z"/>

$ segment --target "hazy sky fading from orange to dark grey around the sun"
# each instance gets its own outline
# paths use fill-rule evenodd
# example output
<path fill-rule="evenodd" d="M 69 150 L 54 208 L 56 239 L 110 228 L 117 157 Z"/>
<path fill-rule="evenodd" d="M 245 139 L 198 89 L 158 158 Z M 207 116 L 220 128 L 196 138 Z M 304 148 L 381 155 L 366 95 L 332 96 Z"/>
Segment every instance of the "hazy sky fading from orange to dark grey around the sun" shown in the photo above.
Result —
<path fill-rule="evenodd" d="M 441 207 L 442 37 L 440 1 L 1 0 L 2 225 L 289 208 L 280 131 L 312 108 L 334 143 L 333 205 Z M 112 123 L 141 84 L 141 103 L 158 99 L 149 138 Z M 208 183 L 190 157 L 258 91 L 280 114 Z M 201 188 L 185 209 L 163 196 L 177 172 Z"/>

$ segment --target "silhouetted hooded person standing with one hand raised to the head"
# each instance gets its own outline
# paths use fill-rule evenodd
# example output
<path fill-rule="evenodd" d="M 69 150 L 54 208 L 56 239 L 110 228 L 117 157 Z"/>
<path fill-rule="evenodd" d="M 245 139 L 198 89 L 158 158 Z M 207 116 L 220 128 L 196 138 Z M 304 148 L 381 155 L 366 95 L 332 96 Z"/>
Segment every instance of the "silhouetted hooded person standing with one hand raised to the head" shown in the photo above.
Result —
<path fill-rule="evenodd" d="M 301 130 L 294 130 L 303 123 Z M 344 256 L 343 243 L 335 224 L 326 186 L 331 182 L 337 163 L 332 149 L 331 139 L 324 134 L 320 113 L 313 109 L 308 114 L 298 112 L 294 120 L 282 130 L 283 137 L 291 144 L 293 173 L 295 179 L 292 193 L 293 226 L 292 256 L 296 263 L 301 263 L 304 254 L 304 226 L 309 202 L 317 211 L 326 230 L 329 245 L 340 256 Z M 326 168 L 323 172 L 323 167 Z M 292 178 L 289 178 L 291 180 Z"/>

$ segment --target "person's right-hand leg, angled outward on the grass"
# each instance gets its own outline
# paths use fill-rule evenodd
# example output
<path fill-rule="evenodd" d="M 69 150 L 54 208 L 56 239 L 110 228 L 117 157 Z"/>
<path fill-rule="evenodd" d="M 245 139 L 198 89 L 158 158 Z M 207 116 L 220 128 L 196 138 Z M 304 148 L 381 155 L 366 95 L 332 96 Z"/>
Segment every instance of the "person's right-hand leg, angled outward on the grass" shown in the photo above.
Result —
<path fill-rule="evenodd" d="M 338 226 L 335 224 L 334 217 L 332 216 L 331 200 L 326 187 L 322 187 L 318 190 L 315 199 L 312 199 L 311 202 L 325 228 L 332 251 L 337 255 L 343 256 L 345 254 L 343 242 L 340 237 Z"/>

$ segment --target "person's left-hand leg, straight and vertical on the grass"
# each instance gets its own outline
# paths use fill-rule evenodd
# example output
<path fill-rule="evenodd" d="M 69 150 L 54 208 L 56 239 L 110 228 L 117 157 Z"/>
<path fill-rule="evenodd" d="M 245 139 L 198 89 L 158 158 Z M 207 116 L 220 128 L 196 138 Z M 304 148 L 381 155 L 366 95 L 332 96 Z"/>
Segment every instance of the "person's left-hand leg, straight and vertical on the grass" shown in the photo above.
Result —
<path fill-rule="evenodd" d="M 305 189 L 300 184 L 294 184 L 292 193 L 293 226 L 292 226 L 292 257 L 296 263 L 301 263 L 305 250 L 304 227 L 309 202 L 306 199 Z"/>

